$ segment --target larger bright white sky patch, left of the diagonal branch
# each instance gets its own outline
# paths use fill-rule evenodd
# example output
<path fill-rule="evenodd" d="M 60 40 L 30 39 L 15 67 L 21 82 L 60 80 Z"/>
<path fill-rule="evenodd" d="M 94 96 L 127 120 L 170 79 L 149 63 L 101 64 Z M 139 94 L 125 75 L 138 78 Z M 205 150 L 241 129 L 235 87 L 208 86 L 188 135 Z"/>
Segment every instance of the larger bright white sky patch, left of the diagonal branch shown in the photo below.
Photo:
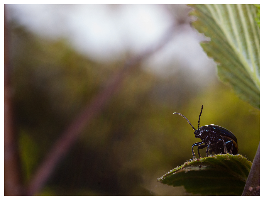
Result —
<path fill-rule="evenodd" d="M 115 5 L 112 5 L 115 6 Z M 9 5 L 31 31 L 67 37 L 77 50 L 99 60 L 135 54 L 159 41 L 172 19 L 161 5 Z"/>

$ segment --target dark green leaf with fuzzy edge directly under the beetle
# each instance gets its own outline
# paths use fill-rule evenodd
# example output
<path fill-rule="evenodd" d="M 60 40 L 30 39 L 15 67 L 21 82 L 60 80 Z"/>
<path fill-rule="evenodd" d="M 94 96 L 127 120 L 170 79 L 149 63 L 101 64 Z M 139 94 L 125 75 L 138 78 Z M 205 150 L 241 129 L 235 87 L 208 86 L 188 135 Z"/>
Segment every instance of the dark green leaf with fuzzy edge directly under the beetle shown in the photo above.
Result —
<path fill-rule="evenodd" d="M 242 155 L 218 154 L 185 162 L 158 181 L 202 195 L 241 195 L 252 163 Z"/>

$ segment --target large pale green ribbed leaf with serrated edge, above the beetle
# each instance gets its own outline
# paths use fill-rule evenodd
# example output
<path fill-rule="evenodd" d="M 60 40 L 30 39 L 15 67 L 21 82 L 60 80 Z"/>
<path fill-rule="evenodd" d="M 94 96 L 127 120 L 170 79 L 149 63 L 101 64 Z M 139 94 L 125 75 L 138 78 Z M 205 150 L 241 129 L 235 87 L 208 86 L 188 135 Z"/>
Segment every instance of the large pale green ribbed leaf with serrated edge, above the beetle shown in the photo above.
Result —
<path fill-rule="evenodd" d="M 218 64 L 218 76 L 236 94 L 260 108 L 260 29 L 254 5 L 192 5 L 192 25 L 211 38 L 201 44 Z"/>

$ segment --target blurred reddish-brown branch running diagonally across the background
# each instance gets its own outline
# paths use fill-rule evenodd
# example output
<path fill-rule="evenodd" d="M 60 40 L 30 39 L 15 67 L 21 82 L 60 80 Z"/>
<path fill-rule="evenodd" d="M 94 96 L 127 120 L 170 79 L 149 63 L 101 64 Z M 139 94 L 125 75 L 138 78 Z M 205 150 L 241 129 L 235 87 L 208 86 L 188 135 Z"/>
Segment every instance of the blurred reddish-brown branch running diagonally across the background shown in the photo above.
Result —
<path fill-rule="evenodd" d="M 44 159 L 43 163 L 36 170 L 33 178 L 28 186 L 28 195 L 34 195 L 40 191 L 43 185 L 46 183 L 55 166 L 60 162 L 60 160 L 65 157 L 67 152 L 70 150 L 71 146 L 78 139 L 81 130 L 87 127 L 91 120 L 99 115 L 99 113 L 105 108 L 106 104 L 113 97 L 115 92 L 117 92 L 121 86 L 123 80 L 129 74 L 132 67 L 139 64 L 143 59 L 152 55 L 154 52 L 160 50 L 165 44 L 167 44 L 175 33 L 175 26 L 173 26 L 165 35 L 165 37 L 160 41 L 160 43 L 154 47 L 149 48 L 145 53 L 141 54 L 134 59 L 126 62 L 123 68 L 111 77 L 111 84 L 108 87 L 101 90 L 89 104 L 82 110 L 79 115 L 72 121 L 69 127 L 66 128 L 62 136 L 55 142 L 54 146 L 51 148 L 47 157 Z"/>

